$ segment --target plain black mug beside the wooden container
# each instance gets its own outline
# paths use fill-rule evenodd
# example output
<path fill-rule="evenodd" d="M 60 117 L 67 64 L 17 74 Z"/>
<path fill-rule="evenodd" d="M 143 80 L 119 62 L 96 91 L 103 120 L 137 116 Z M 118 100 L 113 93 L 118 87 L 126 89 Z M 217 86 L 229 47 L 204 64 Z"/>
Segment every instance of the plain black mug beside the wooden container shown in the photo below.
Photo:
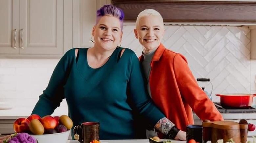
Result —
<path fill-rule="evenodd" d="M 187 143 L 194 139 L 196 142 L 204 143 L 203 141 L 203 127 L 202 125 L 187 125 Z"/>

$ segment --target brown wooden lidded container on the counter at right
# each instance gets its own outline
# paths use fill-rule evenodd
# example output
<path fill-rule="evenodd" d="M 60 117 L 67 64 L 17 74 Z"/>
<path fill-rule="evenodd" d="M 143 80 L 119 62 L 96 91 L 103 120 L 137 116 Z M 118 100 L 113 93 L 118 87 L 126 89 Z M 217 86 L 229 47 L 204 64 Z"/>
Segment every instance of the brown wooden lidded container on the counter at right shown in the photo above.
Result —
<path fill-rule="evenodd" d="M 214 121 L 203 122 L 203 140 L 204 142 L 217 142 L 223 139 L 223 142 L 228 142 L 233 139 L 236 143 L 246 143 L 248 124 L 239 124 L 234 121 Z"/>

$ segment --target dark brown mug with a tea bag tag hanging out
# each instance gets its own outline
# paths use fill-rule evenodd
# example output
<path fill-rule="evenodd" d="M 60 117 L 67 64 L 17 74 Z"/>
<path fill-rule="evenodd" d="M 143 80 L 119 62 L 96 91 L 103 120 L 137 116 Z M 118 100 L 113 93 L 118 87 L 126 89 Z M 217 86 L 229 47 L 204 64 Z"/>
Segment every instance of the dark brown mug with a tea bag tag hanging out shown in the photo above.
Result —
<path fill-rule="evenodd" d="M 80 143 L 90 143 L 93 140 L 99 141 L 99 122 L 85 122 L 73 129 L 74 139 Z"/>

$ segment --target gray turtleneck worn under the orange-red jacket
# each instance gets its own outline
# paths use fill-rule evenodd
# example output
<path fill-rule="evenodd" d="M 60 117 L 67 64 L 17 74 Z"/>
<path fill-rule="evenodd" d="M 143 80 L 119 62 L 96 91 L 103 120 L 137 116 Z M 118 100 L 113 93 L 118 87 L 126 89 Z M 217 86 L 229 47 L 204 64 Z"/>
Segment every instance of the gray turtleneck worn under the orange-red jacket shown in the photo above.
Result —
<path fill-rule="evenodd" d="M 143 71 L 145 73 L 145 76 L 146 76 L 146 79 L 147 79 L 147 89 L 148 89 L 148 94 L 149 96 L 152 98 L 151 96 L 151 92 L 150 92 L 150 84 L 149 84 L 149 75 L 150 75 L 150 72 L 151 72 L 151 60 L 156 52 L 157 48 L 154 49 L 153 51 L 147 53 L 147 54 L 143 54 L 142 52 L 142 55 L 144 57 L 144 60 L 142 61 L 142 66 L 143 66 Z"/>

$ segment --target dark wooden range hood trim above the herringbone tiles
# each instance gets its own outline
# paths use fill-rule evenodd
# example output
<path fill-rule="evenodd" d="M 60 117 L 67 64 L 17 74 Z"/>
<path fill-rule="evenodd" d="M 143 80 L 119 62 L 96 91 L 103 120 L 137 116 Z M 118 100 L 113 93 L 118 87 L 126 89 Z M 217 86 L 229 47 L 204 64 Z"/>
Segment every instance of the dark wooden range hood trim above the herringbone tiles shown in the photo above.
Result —
<path fill-rule="evenodd" d="M 136 21 L 144 9 L 155 9 L 164 22 L 256 23 L 256 2 L 111 0 L 125 13 L 124 21 Z"/>

